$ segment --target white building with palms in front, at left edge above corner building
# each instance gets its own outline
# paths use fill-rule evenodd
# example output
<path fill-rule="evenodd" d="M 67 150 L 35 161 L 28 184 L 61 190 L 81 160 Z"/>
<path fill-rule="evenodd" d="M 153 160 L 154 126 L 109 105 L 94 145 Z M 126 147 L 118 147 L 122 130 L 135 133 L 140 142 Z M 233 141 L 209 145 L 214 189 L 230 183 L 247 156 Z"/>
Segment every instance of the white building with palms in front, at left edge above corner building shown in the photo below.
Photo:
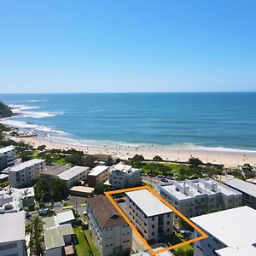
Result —
<path fill-rule="evenodd" d="M 34 205 L 35 193 L 33 187 L 26 189 L 3 189 L 0 191 L 0 213 L 18 212 Z"/>

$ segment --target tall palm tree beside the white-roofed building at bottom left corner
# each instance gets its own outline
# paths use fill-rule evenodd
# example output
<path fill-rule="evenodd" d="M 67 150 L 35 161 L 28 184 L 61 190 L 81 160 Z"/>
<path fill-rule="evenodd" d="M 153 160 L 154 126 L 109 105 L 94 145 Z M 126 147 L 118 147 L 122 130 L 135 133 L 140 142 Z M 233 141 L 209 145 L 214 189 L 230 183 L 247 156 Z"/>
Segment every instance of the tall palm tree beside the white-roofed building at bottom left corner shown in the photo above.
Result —
<path fill-rule="evenodd" d="M 27 227 L 27 230 L 31 232 L 29 241 L 31 255 L 44 255 L 43 224 L 44 222 L 42 221 L 42 219 L 36 216 L 32 219 L 31 223 Z"/>

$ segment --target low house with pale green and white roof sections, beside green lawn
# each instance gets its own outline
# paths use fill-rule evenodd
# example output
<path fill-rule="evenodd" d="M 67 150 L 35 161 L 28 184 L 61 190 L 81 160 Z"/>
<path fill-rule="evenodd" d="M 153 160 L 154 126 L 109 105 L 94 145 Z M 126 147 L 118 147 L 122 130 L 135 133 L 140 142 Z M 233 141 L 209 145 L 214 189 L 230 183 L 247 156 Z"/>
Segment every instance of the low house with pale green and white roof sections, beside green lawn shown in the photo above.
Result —
<path fill-rule="evenodd" d="M 46 256 L 62 256 L 65 247 L 73 247 L 73 228 L 71 223 L 74 220 L 71 210 L 57 213 L 56 216 L 43 218 L 44 222 L 44 247 Z M 69 248 L 69 251 L 72 251 Z"/>

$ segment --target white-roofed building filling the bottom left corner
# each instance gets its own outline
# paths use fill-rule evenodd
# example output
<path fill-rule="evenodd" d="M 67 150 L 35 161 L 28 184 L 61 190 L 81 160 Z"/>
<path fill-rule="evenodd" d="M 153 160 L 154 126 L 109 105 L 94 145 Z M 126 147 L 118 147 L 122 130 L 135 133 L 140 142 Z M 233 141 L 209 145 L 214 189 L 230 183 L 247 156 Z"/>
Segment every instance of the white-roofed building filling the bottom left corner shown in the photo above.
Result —
<path fill-rule="evenodd" d="M 0 215 L 0 255 L 25 256 L 25 212 Z"/>

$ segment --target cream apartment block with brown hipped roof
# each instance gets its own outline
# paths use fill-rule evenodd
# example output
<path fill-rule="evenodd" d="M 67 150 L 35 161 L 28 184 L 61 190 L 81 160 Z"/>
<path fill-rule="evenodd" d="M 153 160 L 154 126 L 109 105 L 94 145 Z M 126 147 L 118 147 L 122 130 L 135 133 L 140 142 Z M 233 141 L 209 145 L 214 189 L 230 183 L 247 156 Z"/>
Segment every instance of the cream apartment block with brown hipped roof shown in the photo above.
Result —
<path fill-rule="evenodd" d="M 106 196 L 89 198 L 87 214 L 91 236 L 102 256 L 130 255 L 131 227 Z"/>

